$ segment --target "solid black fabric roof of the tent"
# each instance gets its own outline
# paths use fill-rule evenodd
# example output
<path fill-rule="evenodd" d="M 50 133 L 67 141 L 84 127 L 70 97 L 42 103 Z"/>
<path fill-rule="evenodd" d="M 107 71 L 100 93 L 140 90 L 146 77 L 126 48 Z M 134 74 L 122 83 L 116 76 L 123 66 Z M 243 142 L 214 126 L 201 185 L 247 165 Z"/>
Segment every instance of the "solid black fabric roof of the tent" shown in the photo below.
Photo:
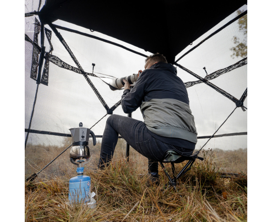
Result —
<path fill-rule="evenodd" d="M 40 12 L 45 24 L 58 19 L 115 37 L 168 62 L 247 0 L 138 0 L 135 3 L 90 0 L 47 0 Z"/>

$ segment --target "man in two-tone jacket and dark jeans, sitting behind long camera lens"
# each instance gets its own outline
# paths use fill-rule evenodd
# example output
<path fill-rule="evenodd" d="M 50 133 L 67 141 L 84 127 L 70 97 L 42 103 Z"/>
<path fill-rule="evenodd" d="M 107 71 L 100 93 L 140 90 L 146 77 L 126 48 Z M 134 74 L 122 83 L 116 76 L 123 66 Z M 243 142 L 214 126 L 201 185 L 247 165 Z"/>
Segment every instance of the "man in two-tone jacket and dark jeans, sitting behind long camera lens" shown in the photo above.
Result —
<path fill-rule="evenodd" d="M 187 90 L 177 69 L 160 54 L 148 56 L 145 70 L 135 86 L 124 80 L 122 109 L 125 113 L 140 107 L 144 122 L 121 115 L 107 119 L 98 168 L 111 161 L 120 134 L 131 147 L 148 158 L 151 182 L 158 184 L 158 161 L 168 150 L 191 155 L 197 142 L 194 117 Z"/>

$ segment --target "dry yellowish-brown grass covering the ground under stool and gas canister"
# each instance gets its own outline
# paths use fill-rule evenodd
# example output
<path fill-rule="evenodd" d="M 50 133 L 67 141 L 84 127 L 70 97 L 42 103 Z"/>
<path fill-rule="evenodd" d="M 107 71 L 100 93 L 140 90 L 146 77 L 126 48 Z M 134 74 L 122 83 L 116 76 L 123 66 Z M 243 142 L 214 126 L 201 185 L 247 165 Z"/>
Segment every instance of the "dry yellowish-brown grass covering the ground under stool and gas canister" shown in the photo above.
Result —
<path fill-rule="evenodd" d="M 61 175 L 50 177 L 52 174 L 48 174 L 49 170 L 34 183 L 25 183 L 25 221 L 247 221 L 247 175 L 245 171 L 241 173 L 242 169 L 246 169 L 245 161 L 240 160 L 239 166 L 236 166 L 238 170 L 232 171 L 240 173 L 239 177 L 222 178 L 218 173 L 227 170 L 225 166 L 235 164 L 237 158 L 234 157 L 237 153 L 245 156 L 245 150 L 201 151 L 204 161 L 195 161 L 192 169 L 181 178 L 177 192 L 172 188 L 163 187 L 168 179 L 161 167 L 160 185 L 147 187 L 147 159 L 131 148 L 130 162 L 126 162 L 124 141 L 119 140 L 112 164 L 106 170 L 95 173 L 91 167 L 97 164 L 99 144 L 90 148 L 93 161 L 92 164 L 86 165 L 84 174 L 91 177 L 91 191 L 96 193 L 96 210 L 84 205 L 71 207 L 66 204 L 69 179 L 76 176 L 76 167 L 73 167 L 66 154 L 63 154 L 63 159 L 54 166 L 57 168 L 58 165 L 66 164 L 61 166 Z M 170 165 L 166 165 L 170 171 Z M 183 163 L 178 164 L 177 170 L 182 166 Z"/>

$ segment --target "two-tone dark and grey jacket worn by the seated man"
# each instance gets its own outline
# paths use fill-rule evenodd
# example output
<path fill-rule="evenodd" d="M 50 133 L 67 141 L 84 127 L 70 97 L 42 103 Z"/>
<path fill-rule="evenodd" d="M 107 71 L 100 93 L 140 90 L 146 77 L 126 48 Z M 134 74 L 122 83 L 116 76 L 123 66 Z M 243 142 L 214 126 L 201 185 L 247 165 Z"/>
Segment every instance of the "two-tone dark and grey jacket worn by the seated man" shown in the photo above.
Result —
<path fill-rule="evenodd" d="M 144 70 L 134 88 L 124 91 L 121 104 L 125 113 L 140 107 L 144 123 L 152 133 L 196 144 L 187 90 L 172 64 L 159 62 Z"/>

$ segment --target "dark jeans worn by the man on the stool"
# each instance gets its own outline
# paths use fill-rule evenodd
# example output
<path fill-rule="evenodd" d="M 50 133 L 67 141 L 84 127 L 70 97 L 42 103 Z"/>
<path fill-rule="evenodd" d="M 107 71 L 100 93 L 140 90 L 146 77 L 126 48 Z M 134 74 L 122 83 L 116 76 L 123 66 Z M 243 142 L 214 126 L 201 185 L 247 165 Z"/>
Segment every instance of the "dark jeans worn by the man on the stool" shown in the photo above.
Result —
<path fill-rule="evenodd" d="M 192 154 L 192 149 L 180 148 L 177 150 L 169 144 L 165 144 L 148 133 L 148 129 L 142 121 L 122 115 L 108 117 L 103 133 L 98 168 L 108 165 L 114 153 L 120 134 L 129 145 L 137 152 L 148 158 L 148 171 L 158 172 L 158 161 L 162 161 L 167 150 L 175 150 L 182 155 Z"/>

